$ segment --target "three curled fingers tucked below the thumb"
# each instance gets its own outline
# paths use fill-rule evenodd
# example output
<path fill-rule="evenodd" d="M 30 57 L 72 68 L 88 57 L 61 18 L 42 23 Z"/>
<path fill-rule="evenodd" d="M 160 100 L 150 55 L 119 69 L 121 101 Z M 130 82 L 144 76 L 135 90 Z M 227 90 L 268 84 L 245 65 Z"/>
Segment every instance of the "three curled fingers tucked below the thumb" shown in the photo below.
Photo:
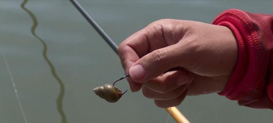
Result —
<path fill-rule="evenodd" d="M 193 77 L 192 73 L 176 68 L 175 71 L 169 71 L 143 83 L 142 93 L 147 98 L 155 99 L 159 107 L 176 106 L 185 98 L 187 94 L 185 91 L 190 86 Z"/>

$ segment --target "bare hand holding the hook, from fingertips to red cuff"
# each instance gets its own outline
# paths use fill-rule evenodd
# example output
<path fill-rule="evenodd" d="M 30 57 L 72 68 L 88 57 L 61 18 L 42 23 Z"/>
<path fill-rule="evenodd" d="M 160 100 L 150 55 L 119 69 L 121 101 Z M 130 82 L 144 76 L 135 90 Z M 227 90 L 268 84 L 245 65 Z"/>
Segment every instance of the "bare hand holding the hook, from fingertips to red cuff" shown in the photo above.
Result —
<path fill-rule="evenodd" d="M 225 26 L 163 19 L 123 41 L 118 54 L 132 92 L 142 88 L 145 97 L 167 108 L 186 95 L 222 92 L 238 46 Z"/>

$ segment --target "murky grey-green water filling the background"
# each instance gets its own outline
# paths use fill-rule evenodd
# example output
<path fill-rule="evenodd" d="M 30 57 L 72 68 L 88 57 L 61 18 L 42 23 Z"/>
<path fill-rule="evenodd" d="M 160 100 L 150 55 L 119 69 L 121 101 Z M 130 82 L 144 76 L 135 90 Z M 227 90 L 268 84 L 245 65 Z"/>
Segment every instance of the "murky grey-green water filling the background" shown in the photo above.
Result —
<path fill-rule="evenodd" d="M 124 71 L 117 55 L 69 1 L 23 2 L 0 1 L 0 52 L 22 106 L 0 55 L 1 123 L 166 122 L 168 113 L 141 92 L 127 92 L 113 104 L 93 93 Z M 162 18 L 211 23 L 228 8 L 273 13 L 271 1 L 79 3 L 117 44 Z M 126 81 L 117 86 L 129 89 Z M 217 94 L 186 97 L 178 108 L 192 123 L 273 121 L 269 109 L 238 106 Z"/>

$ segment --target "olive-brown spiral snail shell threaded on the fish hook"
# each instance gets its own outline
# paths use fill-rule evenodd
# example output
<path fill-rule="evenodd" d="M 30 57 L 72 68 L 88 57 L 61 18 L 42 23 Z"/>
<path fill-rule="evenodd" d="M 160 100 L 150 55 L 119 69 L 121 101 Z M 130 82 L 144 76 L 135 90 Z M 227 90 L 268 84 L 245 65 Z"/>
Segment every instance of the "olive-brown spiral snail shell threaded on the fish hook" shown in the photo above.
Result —
<path fill-rule="evenodd" d="M 103 86 L 96 87 L 93 91 L 101 98 L 108 102 L 117 102 L 121 96 L 122 91 L 111 84 L 105 84 Z"/>

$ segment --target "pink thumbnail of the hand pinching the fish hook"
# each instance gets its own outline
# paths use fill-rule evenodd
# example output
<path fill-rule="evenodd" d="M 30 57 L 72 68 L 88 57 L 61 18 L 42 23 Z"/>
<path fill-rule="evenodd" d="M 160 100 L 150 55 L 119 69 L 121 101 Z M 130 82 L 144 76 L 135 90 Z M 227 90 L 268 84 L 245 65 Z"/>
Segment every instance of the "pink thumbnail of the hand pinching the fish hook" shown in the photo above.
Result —
<path fill-rule="evenodd" d="M 139 80 L 144 77 L 145 71 L 143 67 L 140 64 L 134 65 L 130 70 L 129 70 L 130 76 L 133 79 Z"/>

